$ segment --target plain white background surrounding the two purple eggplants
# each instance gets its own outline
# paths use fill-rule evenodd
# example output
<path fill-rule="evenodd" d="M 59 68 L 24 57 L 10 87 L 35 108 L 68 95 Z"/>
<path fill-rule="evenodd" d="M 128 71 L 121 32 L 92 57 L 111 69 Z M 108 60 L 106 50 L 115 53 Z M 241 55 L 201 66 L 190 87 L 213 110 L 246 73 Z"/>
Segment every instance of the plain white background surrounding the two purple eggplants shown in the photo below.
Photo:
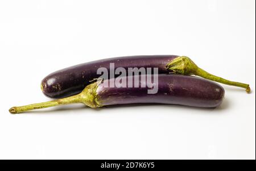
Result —
<path fill-rule="evenodd" d="M 217 109 L 69 105 L 40 81 L 82 62 L 186 55 L 225 86 Z M 255 159 L 255 1 L 0 1 L 0 159 Z"/>

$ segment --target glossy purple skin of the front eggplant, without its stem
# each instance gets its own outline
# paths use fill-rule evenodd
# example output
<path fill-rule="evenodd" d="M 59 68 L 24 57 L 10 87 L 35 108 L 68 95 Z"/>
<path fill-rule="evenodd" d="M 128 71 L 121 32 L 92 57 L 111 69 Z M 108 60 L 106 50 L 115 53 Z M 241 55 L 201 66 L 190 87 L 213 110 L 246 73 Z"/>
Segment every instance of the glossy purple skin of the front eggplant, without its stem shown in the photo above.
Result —
<path fill-rule="evenodd" d="M 109 82 L 109 80 L 105 81 Z M 147 94 L 150 87 L 141 87 L 141 84 L 143 81 L 137 88 L 105 87 L 104 84 L 100 84 L 96 90 L 96 102 L 100 106 L 163 103 L 210 108 L 219 106 L 225 94 L 222 86 L 194 76 L 159 74 L 156 94 Z"/>

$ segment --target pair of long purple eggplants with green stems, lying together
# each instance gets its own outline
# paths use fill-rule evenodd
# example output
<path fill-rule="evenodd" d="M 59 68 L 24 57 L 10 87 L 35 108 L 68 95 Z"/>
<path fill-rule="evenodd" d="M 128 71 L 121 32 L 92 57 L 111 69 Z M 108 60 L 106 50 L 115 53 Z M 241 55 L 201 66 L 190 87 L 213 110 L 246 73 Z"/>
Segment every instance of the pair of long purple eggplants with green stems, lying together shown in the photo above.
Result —
<path fill-rule="evenodd" d="M 147 86 L 145 82 L 147 80 L 141 80 L 139 87 L 104 86 L 109 84 L 110 81 L 115 81 L 116 78 L 92 82 L 99 77 L 97 74 L 98 68 L 105 67 L 109 72 L 110 63 L 114 63 L 115 68 L 122 67 L 126 71 L 128 68 L 135 67 L 158 68 L 158 83 L 154 85 L 158 86 L 157 93 L 148 94 L 148 89 L 152 89 L 152 87 Z M 127 76 L 125 79 L 128 81 L 131 77 L 134 76 Z M 12 107 L 9 111 L 16 114 L 71 103 L 84 103 L 92 108 L 129 103 L 217 107 L 222 103 L 225 91 L 222 86 L 208 80 L 243 87 L 247 93 L 250 92 L 249 85 L 209 74 L 186 56 L 127 56 L 87 62 L 51 73 L 43 79 L 41 89 L 47 97 L 57 99 L 27 106 Z M 146 86 L 141 86 L 142 84 Z"/>

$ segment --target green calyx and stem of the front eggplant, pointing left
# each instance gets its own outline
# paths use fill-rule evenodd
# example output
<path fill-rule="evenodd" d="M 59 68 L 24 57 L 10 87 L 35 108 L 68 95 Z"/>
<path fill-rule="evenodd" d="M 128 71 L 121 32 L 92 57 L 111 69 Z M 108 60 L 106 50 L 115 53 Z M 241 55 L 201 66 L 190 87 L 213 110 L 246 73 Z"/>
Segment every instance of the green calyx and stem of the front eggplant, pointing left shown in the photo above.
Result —
<path fill-rule="evenodd" d="M 55 101 L 43 102 L 43 103 L 35 103 L 26 106 L 19 106 L 19 107 L 11 107 L 9 112 L 11 114 L 18 114 L 20 112 L 25 112 L 28 110 L 34 109 L 43 109 L 47 107 L 53 107 L 58 105 L 68 105 L 72 103 L 84 103 L 86 106 L 97 108 L 101 107 L 101 105 L 96 101 L 97 99 L 97 90 L 98 82 L 94 82 L 85 87 L 84 90 L 80 94 L 73 95 L 71 97 L 57 99 Z"/>

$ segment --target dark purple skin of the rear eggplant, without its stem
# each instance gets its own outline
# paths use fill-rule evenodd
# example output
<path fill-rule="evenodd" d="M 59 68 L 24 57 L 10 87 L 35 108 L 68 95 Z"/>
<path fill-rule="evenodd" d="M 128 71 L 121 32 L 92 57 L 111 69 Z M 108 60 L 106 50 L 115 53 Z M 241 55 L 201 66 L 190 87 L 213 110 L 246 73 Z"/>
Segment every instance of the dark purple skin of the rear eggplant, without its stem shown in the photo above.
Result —
<path fill-rule="evenodd" d="M 168 73 L 166 65 L 174 60 L 176 55 L 144 55 L 125 56 L 86 62 L 71 66 L 49 74 L 42 80 L 41 89 L 47 97 L 62 98 L 80 93 L 93 79 L 100 77 L 97 69 L 105 67 L 109 71 L 109 64 L 115 68 L 158 68 L 158 73 Z"/>

